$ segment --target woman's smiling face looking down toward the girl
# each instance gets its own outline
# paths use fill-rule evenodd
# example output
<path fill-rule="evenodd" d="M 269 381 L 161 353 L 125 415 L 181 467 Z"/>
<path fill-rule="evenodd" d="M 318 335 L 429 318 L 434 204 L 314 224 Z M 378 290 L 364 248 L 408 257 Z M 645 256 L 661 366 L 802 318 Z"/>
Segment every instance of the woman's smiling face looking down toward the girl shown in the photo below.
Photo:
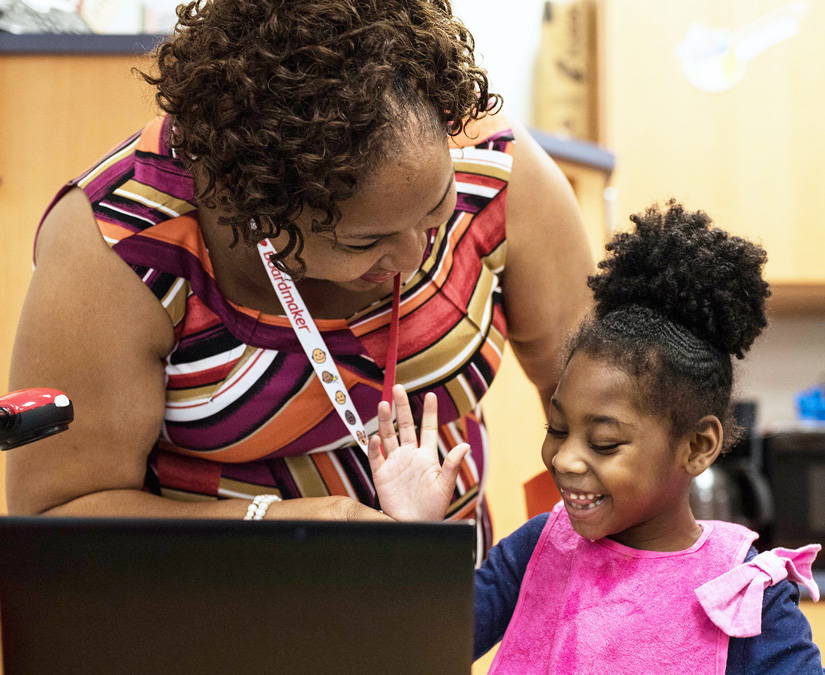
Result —
<path fill-rule="evenodd" d="M 312 232 L 310 215 L 299 217 L 306 277 L 363 292 L 399 272 L 414 272 L 421 265 L 428 231 L 446 222 L 455 204 L 446 139 L 400 150 L 339 204 L 335 235 Z M 273 240 L 276 248 L 278 243 Z"/>

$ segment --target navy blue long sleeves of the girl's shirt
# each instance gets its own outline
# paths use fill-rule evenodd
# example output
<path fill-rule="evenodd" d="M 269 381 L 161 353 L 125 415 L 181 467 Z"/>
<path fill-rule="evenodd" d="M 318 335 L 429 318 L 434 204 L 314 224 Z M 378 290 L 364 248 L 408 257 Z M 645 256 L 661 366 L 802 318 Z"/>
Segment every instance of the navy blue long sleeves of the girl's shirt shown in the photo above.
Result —
<path fill-rule="evenodd" d="M 521 579 L 527 568 L 548 514 L 532 518 L 490 549 L 475 575 L 474 658 L 501 640 L 513 616 Z M 745 560 L 756 555 L 748 551 Z M 811 627 L 800 611 L 799 588 L 781 581 L 765 591 L 762 604 L 762 633 L 750 638 L 731 638 L 728 646 L 728 675 L 822 675 L 819 649 Z"/>

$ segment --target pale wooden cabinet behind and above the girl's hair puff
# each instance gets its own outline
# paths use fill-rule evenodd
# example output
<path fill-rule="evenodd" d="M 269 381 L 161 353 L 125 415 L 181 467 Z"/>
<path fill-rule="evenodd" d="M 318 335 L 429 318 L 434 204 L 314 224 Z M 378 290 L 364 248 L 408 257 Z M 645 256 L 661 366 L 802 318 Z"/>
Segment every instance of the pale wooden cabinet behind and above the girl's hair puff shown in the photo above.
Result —
<path fill-rule="evenodd" d="M 676 197 L 767 249 L 775 310 L 825 311 L 825 3 L 602 0 L 600 10 L 600 141 L 618 158 L 619 226 Z M 703 29 L 730 31 L 706 37 L 739 51 L 701 62 Z M 680 57 L 691 30 L 694 51 Z M 760 40 L 775 44 L 759 51 Z M 693 76 L 701 86 L 731 86 L 702 90 L 685 64 L 718 68 Z"/>

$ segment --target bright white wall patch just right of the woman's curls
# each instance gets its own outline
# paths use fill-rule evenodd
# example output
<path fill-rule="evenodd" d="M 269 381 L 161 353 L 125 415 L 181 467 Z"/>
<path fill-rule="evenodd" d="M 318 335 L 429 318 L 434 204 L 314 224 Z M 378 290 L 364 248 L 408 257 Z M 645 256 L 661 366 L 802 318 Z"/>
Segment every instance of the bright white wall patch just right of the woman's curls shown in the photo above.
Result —
<path fill-rule="evenodd" d="M 531 122 L 533 70 L 544 0 L 453 0 L 453 13 L 476 40 L 490 89 L 504 96 L 508 117 Z"/>

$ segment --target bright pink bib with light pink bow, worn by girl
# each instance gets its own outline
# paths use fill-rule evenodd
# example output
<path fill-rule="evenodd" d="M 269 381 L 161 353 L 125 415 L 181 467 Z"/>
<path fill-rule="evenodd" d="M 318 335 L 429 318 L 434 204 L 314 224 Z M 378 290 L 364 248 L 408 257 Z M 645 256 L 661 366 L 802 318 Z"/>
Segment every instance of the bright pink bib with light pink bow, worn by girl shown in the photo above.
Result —
<path fill-rule="evenodd" d="M 762 593 L 784 578 L 814 597 L 819 546 L 744 560 L 755 532 L 701 521 L 682 551 L 642 551 L 547 519 L 490 673 L 724 673 L 731 636 L 761 630 Z M 799 569 L 797 569 L 799 566 Z"/>

